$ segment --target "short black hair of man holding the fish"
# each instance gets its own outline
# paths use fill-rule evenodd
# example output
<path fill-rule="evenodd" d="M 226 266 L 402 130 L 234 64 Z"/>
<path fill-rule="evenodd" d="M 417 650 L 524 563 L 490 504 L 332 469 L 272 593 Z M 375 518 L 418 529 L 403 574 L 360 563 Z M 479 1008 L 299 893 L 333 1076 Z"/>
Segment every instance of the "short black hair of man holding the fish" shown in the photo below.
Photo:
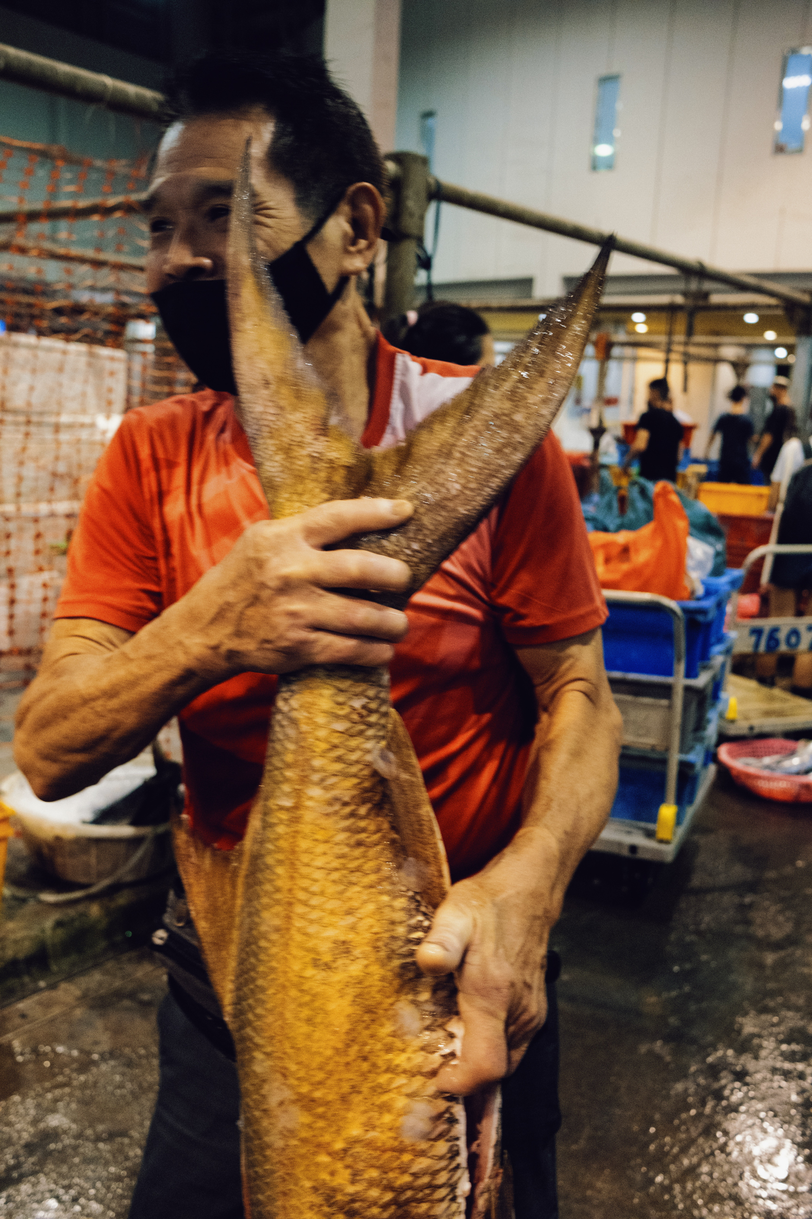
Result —
<path fill-rule="evenodd" d="M 211 51 L 177 71 L 167 98 L 170 122 L 251 106 L 273 115 L 270 161 L 312 221 L 336 207 L 354 182 L 383 189 L 383 161 L 369 123 L 319 55 Z"/>

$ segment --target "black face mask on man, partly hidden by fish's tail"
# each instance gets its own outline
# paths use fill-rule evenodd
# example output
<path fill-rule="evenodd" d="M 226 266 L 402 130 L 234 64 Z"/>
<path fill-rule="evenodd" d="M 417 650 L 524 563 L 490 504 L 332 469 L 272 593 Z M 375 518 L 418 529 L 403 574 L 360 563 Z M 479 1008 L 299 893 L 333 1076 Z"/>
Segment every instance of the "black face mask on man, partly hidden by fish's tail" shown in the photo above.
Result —
<path fill-rule="evenodd" d="M 329 293 L 307 252 L 307 243 L 324 228 L 336 207 L 337 202 L 332 204 L 290 250 L 265 263 L 265 271 L 302 343 L 315 334 L 347 286 L 347 277 L 343 275 Z M 178 355 L 195 377 L 209 389 L 236 394 L 225 280 L 185 279 L 152 293 L 152 300 Z"/>

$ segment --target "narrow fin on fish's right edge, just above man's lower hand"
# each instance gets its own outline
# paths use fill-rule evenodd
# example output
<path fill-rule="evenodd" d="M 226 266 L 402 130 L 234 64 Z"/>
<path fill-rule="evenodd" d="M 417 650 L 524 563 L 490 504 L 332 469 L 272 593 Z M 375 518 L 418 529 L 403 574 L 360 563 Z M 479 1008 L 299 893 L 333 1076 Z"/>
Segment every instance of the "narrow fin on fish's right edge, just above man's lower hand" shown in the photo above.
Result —
<path fill-rule="evenodd" d="M 394 825 L 403 845 L 407 887 L 437 909 L 452 884 L 446 847 L 411 737 L 394 708 L 390 708 L 386 744 L 390 759 L 381 773 L 387 780 Z"/>

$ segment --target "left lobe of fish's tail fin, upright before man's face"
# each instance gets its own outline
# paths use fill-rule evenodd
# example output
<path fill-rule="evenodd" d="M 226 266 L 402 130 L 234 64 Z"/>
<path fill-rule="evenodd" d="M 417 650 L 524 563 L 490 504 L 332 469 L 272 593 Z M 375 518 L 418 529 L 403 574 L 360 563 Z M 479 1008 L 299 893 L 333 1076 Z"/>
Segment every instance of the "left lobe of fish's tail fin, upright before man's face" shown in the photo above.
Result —
<path fill-rule="evenodd" d="M 236 411 L 271 516 L 360 494 L 363 450 L 342 429 L 338 403 L 306 361 L 256 249 L 251 140 L 234 187 L 228 268 Z"/>

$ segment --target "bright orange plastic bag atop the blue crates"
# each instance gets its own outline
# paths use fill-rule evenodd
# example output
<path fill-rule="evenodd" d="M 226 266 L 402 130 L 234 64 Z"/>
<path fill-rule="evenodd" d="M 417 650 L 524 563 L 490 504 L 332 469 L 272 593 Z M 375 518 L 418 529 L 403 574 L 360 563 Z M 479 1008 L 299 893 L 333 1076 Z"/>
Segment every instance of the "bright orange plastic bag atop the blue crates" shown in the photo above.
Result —
<path fill-rule="evenodd" d="M 688 517 L 671 483 L 654 489 L 654 521 L 642 529 L 590 533 L 589 544 L 603 589 L 659 592 L 673 601 L 691 595 L 685 577 Z"/>

